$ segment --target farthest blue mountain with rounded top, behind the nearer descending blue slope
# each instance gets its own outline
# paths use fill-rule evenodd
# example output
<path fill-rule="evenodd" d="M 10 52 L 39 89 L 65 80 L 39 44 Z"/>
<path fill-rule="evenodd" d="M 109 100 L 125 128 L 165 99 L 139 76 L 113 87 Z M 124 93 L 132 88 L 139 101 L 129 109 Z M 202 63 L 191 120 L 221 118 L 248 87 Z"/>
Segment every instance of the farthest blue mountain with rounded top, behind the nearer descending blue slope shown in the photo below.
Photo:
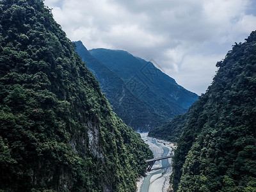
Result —
<path fill-rule="evenodd" d="M 125 83 L 125 88 L 136 100 L 141 100 L 147 109 L 152 111 L 152 115 L 158 115 L 154 118 L 154 122 L 163 124 L 176 115 L 185 113 L 198 97 L 195 93 L 179 86 L 174 79 L 161 72 L 151 62 L 136 58 L 129 52 L 109 49 L 92 49 L 89 52 L 120 77 Z M 96 70 L 95 74 L 98 76 Z M 115 93 L 118 92 L 122 90 L 116 88 Z M 147 116 L 141 117 L 147 118 Z M 153 121 L 148 122 L 148 125 Z"/>

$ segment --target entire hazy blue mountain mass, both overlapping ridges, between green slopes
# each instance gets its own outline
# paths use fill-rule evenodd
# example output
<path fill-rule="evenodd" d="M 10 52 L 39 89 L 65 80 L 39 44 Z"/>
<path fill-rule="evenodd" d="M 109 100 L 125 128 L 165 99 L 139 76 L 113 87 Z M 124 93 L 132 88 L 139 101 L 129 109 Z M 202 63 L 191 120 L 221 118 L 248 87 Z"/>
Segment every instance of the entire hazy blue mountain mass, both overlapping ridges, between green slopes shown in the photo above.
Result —
<path fill-rule="evenodd" d="M 198 97 L 151 62 L 129 52 L 109 49 L 88 52 L 81 42 L 76 45 L 76 51 L 95 74 L 113 110 L 136 130 L 148 131 L 185 113 Z"/>

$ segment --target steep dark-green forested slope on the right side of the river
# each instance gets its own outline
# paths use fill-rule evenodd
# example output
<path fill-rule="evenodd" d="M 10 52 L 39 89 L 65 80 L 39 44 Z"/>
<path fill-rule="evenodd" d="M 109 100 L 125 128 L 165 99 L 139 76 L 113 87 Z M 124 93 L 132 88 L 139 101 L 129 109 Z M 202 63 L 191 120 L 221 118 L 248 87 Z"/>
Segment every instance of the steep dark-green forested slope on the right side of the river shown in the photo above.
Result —
<path fill-rule="evenodd" d="M 179 138 L 175 191 L 256 191 L 256 32 L 216 66 Z"/>

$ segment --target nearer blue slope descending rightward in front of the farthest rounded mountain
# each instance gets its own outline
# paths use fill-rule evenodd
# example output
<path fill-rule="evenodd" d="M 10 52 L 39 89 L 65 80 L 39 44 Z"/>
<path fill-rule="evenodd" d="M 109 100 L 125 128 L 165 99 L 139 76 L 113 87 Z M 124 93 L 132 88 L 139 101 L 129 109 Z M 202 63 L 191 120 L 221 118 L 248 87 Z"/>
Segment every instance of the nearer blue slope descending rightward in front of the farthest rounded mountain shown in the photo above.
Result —
<path fill-rule="evenodd" d="M 124 120 L 125 124 L 140 131 L 148 131 L 152 127 L 164 124 L 164 118 L 158 115 L 152 106 L 134 97 L 127 84 L 115 72 L 94 58 L 81 41 L 74 43 L 77 53 L 99 81 L 102 92 L 106 93 L 113 111 Z"/>

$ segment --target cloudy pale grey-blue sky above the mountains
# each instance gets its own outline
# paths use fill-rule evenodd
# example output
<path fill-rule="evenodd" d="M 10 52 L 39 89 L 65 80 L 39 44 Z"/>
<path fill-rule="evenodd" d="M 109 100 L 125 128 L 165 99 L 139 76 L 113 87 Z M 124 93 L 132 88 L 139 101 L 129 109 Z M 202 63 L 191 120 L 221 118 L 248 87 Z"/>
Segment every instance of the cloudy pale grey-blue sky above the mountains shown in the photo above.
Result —
<path fill-rule="evenodd" d="M 198 95 L 217 61 L 256 30 L 255 0 L 45 0 L 72 41 L 154 60 Z"/>

